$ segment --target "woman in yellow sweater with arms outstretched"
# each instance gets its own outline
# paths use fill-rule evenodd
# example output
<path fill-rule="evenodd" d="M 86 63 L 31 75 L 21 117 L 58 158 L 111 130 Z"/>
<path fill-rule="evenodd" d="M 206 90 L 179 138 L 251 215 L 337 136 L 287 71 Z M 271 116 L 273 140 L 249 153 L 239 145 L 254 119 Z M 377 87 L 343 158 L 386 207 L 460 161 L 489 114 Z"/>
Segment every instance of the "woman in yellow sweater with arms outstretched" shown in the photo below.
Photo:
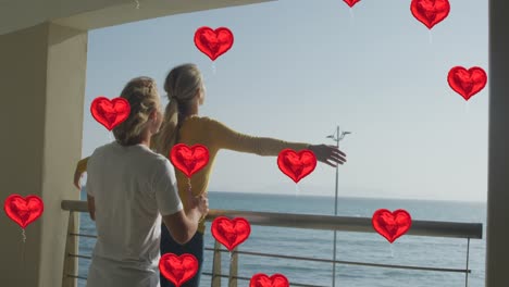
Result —
<path fill-rule="evenodd" d="M 198 116 L 199 105 L 204 101 L 204 85 L 200 71 L 194 64 L 184 64 L 173 68 L 164 83 L 164 90 L 167 93 L 170 103 L 166 105 L 161 130 L 152 138 L 152 149 L 165 157 L 172 147 L 177 144 L 204 145 L 209 149 L 209 163 L 198 173 L 193 175 L 190 182 L 193 194 L 195 196 L 204 195 L 209 176 L 211 174 L 215 155 L 220 149 L 228 149 L 240 152 L 249 152 L 259 155 L 275 157 L 283 149 L 294 150 L 310 149 L 316 159 L 331 166 L 343 164 L 345 153 L 336 147 L 309 144 L 294 144 L 273 138 L 251 137 L 239 134 L 224 124 L 209 118 Z M 82 160 L 76 167 L 75 185 L 78 185 L 82 173 L 86 170 L 86 159 Z M 186 200 L 188 179 L 181 172 L 176 171 L 179 196 L 184 201 L 184 208 L 187 209 Z M 167 232 L 162 229 L 161 253 L 193 253 L 197 257 L 200 265 L 197 276 L 183 285 L 183 287 L 199 286 L 199 275 L 203 261 L 203 233 L 204 223 L 200 223 L 198 233 L 193 239 L 181 246 L 175 242 Z M 161 287 L 173 286 L 165 278 L 161 277 Z"/>

